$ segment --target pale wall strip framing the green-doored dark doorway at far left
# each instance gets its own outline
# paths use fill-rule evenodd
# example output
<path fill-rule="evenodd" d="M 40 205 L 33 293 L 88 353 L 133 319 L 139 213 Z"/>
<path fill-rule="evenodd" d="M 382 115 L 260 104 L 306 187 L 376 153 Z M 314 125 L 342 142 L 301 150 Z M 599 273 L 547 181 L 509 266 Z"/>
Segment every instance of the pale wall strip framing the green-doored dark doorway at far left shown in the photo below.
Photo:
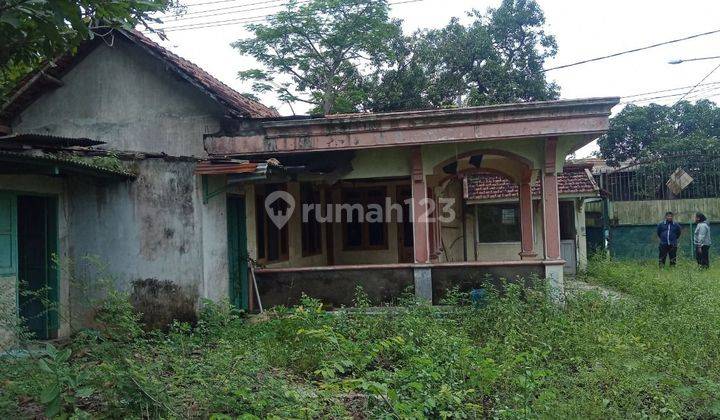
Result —
<path fill-rule="evenodd" d="M 69 219 L 67 184 L 60 178 L 36 175 L 0 175 L 0 190 L 17 194 L 52 195 L 58 199 L 58 261 L 61 264 L 58 281 L 58 335 L 64 337 L 71 329 L 70 318 L 70 284 L 68 270 L 63 269 L 68 261 L 69 250 Z M 6 313 L 17 314 L 17 276 L 0 278 L 0 307 Z M 1 315 L 5 316 L 5 314 Z M 7 331 L 0 329 L 0 344 L 11 340 Z"/>

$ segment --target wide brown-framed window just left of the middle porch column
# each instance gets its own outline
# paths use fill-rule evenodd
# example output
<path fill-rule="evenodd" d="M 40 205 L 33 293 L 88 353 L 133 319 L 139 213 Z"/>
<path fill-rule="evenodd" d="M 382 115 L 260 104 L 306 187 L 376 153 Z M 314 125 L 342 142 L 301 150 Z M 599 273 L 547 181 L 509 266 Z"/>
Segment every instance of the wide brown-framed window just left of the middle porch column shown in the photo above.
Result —
<path fill-rule="evenodd" d="M 347 250 L 387 249 L 387 224 L 384 223 L 385 187 L 344 189 L 342 192 L 343 245 Z M 365 217 L 373 213 L 371 204 L 383 209 L 383 217 Z M 373 206 L 375 207 L 375 206 Z M 363 220 L 361 221 L 361 216 Z"/>

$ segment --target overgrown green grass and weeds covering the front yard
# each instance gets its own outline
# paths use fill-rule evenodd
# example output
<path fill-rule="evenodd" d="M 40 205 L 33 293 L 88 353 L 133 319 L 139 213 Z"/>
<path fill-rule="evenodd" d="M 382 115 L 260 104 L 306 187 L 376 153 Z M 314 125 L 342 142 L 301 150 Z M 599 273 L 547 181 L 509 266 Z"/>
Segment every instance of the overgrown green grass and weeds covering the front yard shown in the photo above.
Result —
<path fill-rule="evenodd" d="M 640 418 L 720 416 L 720 272 L 596 261 L 565 308 L 509 287 L 481 308 L 328 314 L 319 302 L 141 334 L 127 307 L 70 344 L 62 369 L 0 365 L 0 417 L 38 410 L 68 372 L 63 410 L 107 417 Z M 65 369 L 65 370 L 63 370 Z M 62 378 L 61 378 L 62 379 Z M 91 390 L 90 395 L 88 390 Z"/>

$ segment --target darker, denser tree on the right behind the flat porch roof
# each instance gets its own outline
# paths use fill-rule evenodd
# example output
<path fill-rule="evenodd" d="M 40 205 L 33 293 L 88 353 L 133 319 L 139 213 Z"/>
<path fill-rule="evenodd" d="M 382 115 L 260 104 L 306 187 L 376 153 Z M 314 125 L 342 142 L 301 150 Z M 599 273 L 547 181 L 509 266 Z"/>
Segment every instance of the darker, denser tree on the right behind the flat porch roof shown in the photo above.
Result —
<path fill-rule="evenodd" d="M 419 31 L 379 78 L 369 108 L 398 110 L 556 99 L 543 72 L 555 55 L 553 36 L 533 0 L 504 0 L 486 15 L 474 10 L 463 26 Z"/>

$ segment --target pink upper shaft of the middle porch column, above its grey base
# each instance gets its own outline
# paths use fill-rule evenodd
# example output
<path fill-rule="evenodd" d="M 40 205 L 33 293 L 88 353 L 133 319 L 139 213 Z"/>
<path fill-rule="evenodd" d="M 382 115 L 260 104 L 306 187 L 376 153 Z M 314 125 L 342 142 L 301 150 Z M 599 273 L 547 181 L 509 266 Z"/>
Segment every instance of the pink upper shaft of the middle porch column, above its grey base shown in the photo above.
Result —
<path fill-rule="evenodd" d="M 410 182 L 412 183 L 413 245 L 416 263 L 430 261 L 430 237 L 427 220 L 427 184 L 422 168 L 422 150 L 413 148 Z"/>

